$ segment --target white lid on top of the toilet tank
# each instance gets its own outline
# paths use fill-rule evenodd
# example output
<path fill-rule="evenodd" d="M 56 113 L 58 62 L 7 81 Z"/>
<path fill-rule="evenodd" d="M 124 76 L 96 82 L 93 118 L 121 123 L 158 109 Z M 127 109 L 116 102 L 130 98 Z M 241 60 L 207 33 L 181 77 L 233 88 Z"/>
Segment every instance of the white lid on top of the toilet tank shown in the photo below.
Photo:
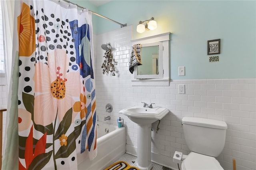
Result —
<path fill-rule="evenodd" d="M 182 123 L 187 125 L 195 125 L 195 126 L 208 127 L 208 128 L 219 128 L 219 129 L 228 128 L 226 122 L 213 120 L 213 119 L 199 118 L 199 117 L 184 117 L 182 119 Z"/>

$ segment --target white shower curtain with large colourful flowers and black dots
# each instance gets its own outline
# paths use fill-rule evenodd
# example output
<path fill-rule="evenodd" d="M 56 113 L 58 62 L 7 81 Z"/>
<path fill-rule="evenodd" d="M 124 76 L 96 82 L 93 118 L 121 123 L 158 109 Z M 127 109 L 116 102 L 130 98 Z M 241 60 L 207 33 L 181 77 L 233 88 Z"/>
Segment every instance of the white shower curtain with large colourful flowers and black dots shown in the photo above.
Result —
<path fill-rule="evenodd" d="M 97 154 L 91 14 L 50 0 L 16 1 L 15 12 L 3 169 L 16 148 L 21 170 L 74 170 L 79 154 Z"/>

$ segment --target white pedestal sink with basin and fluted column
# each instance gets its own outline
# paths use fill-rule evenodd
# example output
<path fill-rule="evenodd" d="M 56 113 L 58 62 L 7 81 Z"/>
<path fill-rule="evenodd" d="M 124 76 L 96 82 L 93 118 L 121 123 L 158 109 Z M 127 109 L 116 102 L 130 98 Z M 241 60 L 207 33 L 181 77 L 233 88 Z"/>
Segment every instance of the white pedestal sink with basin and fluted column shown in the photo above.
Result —
<path fill-rule="evenodd" d="M 161 120 L 169 113 L 168 109 L 142 106 L 132 106 L 119 111 L 126 115 L 131 121 L 138 124 L 138 168 L 140 170 L 151 170 L 151 124 Z"/>

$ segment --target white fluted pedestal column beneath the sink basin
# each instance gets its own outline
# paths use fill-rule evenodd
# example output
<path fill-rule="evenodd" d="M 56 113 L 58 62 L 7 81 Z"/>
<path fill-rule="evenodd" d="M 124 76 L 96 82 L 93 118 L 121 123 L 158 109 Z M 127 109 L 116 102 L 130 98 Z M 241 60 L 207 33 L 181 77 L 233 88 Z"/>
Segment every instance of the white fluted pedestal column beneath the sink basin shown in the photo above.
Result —
<path fill-rule="evenodd" d="M 140 170 L 150 170 L 151 163 L 151 124 L 138 124 L 137 162 Z"/>

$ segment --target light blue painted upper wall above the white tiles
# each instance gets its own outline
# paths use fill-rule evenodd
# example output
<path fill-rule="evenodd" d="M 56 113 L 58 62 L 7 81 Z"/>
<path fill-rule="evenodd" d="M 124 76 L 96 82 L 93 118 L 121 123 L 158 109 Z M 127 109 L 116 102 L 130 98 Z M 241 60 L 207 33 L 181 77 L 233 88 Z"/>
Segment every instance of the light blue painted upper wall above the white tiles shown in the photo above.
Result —
<path fill-rule="evenodd" d="M 171 32 L 171 79 L 256 78 L 256 1 L 110 1 L 97 12 L 133 25 L 133 37 Z M 136 32 L 140 20 L 154 17 L 158 28 Z M 94 34 L 120 28 L 97 18 Z M 209 63 L 207 40 L 221 39 L 220 61 Z M 178 76 L 185 66 L 186 75 Z"/>

